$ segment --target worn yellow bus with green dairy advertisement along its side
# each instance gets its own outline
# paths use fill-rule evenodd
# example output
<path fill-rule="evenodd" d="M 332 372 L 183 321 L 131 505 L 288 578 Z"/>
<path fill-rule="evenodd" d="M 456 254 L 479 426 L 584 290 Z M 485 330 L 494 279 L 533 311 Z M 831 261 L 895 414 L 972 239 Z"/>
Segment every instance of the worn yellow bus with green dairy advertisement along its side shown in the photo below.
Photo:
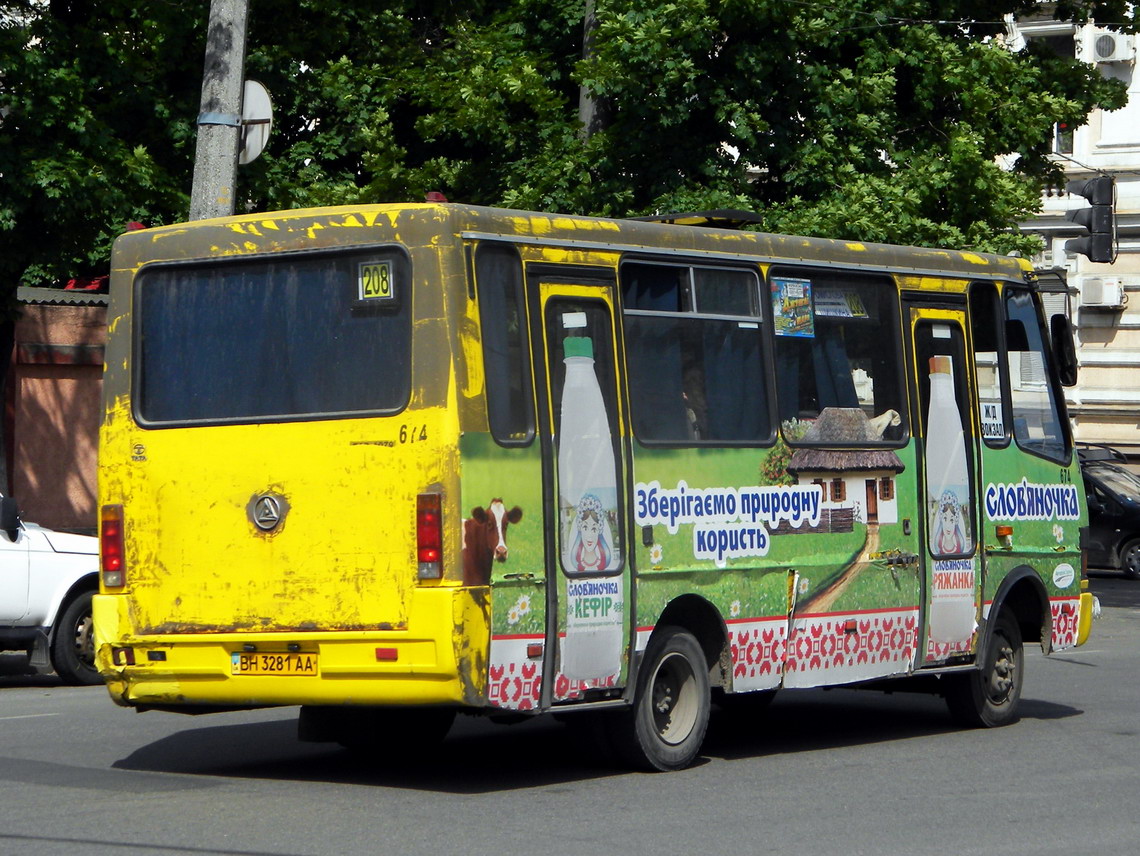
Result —
<path fill-rule="evenodd" d="M 121 237 L 114 701 L 301 706 L 302 739 L 376 749 L 564 714 L 651 769 L 782 688 L 1013 722 L 1023 641 L 1092 614 L 1067 320 L 1017 259 L 742 220 L 430 203 Z"/>

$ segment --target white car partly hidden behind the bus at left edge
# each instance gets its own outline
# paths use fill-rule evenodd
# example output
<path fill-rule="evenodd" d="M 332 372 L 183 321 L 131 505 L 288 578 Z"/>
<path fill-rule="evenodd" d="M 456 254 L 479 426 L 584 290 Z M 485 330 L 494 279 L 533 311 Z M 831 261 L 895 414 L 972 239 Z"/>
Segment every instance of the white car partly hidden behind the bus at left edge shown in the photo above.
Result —
<path fill-rule="evenodd" d="M 0 651 L 24 651 L 36 671 L 67 684 L 99 684 L 91 595 L 99 587 L 98 539 L 19 519 L 0 497 Z"/>

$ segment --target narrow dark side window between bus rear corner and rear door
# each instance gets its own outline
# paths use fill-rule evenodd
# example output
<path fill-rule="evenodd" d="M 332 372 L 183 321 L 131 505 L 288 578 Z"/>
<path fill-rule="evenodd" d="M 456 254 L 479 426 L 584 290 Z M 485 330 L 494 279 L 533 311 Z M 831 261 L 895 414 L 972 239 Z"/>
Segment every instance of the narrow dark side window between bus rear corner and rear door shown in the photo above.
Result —
<path fill-rule="evenodd" d="M 475 283 L 491 435 L 503 446 L 526 446 L 535 435 L 535 407 L 518 250 L 507 244 L 480 244 Z"/>

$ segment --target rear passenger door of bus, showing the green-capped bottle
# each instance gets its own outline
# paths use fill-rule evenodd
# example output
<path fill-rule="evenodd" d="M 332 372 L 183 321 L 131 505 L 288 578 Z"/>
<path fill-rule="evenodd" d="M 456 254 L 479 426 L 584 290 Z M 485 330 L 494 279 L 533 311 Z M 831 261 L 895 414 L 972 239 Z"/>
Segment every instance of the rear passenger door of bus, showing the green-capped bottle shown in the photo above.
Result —
<path fill-rule="evenodd" d="M 587 694 L 604 698 L 608 691 L 617 695 L 626 683 L 632 614 L 627 453 L 612 277 L 529 272 L 549 569 L 546 706 Z"/>

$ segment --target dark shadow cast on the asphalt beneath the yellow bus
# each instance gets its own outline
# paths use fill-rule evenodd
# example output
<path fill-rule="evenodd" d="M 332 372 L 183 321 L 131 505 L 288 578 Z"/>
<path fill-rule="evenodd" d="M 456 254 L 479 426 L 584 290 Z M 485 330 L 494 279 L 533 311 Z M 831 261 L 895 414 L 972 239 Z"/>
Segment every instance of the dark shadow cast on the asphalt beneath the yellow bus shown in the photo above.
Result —
<path fill-rule="evenodd" d="M 1023 699 L 1023 719 L 1050 720 L 1081 710 Z M 1018 726 L 1013 726 L 1018 727 Z M 938 696 L 857 690 L 781 694 L 750 714 L 714 708 L 698 766 L 797 752 L 857 748 L 962 733 Z M 585 781 L 629 771 L 579 729 L 548 716 L 504 726 L 458 717 L 447 739 L 361 753 L 335 744 L 299 743 L 293 718 L 194 727 L 117 761 L 117 768 L 235 778 L 391 786 L 442 793 L 489 793 Z"/>

